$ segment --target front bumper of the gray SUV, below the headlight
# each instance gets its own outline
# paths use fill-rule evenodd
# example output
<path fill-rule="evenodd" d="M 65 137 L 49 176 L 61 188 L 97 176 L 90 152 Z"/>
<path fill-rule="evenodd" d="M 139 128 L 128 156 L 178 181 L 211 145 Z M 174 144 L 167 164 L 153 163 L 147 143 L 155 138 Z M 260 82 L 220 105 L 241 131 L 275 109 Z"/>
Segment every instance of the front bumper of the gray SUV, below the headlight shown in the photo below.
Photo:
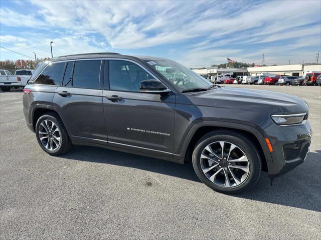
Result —
<path fill-rule="evenodd" d="M 272 161 L 267 161 L 268 174 L 282 175 L 301 164 L 309 151 L 312 130 L 305 124 L 279 126 L 275 123 L 265 128 L 273 151 Z"/>

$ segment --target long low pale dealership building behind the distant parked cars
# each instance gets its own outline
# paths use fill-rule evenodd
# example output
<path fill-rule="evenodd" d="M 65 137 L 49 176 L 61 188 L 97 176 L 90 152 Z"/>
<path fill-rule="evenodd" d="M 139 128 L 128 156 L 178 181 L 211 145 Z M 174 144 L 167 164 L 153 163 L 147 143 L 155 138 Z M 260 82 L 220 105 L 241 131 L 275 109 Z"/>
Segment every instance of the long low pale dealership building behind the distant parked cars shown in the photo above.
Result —
<path fill-rule="evenodd" d="M 275 73 L 280 75 L 301 76 L 304 71 L 321 71 L 321 64 L 291 64 L 276 66 L 256 66 L 246 68 L 217 68 L 214 66 L 192 69 L 203 77 L 211 77 L 222 73 L 233 72 L 233 76 L 251 75 L 256 76 L 262 73 Z"/>

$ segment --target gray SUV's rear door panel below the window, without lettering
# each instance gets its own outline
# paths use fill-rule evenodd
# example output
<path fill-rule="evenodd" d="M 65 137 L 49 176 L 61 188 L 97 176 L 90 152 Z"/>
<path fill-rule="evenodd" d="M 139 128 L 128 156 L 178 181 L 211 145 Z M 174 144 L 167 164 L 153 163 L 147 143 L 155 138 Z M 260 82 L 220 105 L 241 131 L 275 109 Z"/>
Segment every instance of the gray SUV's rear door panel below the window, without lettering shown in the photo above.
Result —
<path fill-rule="evenodd" d="M 62 96 L 59 92 L 69 92 Z M 53 102 L 61 109 L 72 135 L 107 141 L 101 89 L 57 87 Z"/>

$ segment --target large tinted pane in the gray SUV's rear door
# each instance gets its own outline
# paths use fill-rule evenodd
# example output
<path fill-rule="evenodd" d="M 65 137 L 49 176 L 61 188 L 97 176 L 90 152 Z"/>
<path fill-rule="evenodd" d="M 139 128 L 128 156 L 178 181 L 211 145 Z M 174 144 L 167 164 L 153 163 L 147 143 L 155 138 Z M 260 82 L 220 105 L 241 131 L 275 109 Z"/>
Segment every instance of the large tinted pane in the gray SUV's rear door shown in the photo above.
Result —
<path fill-rule="evenodd" d="M 75 61 L 72 86 L 99 88 L 101 60 Z"/>

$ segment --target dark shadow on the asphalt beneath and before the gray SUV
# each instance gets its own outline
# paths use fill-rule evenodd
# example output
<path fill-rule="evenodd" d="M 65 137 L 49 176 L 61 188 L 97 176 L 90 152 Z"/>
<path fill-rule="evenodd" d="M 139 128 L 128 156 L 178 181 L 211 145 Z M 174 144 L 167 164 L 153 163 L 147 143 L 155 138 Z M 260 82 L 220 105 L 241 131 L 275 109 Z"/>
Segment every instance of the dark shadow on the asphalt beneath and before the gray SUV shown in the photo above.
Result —
<path fill-rule="evenodd" d="M 191 162 L 179 164 L 100 147 L 78 145 L 62 157 L 132 167 L 200 182 Z M 246 198 L 321 212 L 320 158 L 320 150 L 309 152 L 303 164 L 285 175 L 274 178 L 273 185 L 271 185 L 267 173 L 263 172 L 253 188 L 229 197 Z"/>

